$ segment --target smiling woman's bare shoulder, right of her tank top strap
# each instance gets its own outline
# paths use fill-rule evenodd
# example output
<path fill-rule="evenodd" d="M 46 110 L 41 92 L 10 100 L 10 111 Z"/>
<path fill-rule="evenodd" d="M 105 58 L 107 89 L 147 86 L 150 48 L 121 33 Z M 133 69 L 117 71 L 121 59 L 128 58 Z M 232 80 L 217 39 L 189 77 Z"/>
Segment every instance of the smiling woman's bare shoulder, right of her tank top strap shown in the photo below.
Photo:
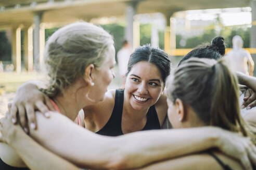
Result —
<path fill-rule="evenodd" d="M 157 115 L 158 119 L 160 122 L 160 125 L 162 126 L 163 121 L 165 117 L 167 116 L 167 110 L 168 110 L 168 105 L 167 105 L 167 96 L 162 94 L 159 97 L 159 100 L 155 104 L 156 110 L 157 110 Z"/>

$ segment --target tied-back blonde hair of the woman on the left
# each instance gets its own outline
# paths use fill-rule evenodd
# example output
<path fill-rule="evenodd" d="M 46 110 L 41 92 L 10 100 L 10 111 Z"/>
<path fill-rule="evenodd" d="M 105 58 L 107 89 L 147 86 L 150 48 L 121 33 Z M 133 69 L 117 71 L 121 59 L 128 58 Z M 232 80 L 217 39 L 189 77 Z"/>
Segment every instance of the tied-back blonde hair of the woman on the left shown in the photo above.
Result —
<path fill-rule="evenodd" d="M 89 64 L 100 67 L 113 43 L 109 33 L 91 23 L 75 22 L 61 27 L 45 46 L 44 63 L 49 81 L 48 88 L 41 90 L 53 97 L 83 76 Z"/>

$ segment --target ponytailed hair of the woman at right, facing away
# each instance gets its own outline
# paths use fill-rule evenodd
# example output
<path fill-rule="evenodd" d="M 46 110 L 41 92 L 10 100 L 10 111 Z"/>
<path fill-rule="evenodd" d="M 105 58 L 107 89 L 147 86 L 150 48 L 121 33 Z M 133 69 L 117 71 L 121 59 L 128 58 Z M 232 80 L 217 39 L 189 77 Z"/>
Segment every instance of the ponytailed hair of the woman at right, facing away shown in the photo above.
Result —
<path fill-rule="evenodd" d="M 240 116 L 238 81 L 224 60 L 191 58 L 167 80 L 168 98 L 189 104 L 204 123 L 255 138 Z"/>

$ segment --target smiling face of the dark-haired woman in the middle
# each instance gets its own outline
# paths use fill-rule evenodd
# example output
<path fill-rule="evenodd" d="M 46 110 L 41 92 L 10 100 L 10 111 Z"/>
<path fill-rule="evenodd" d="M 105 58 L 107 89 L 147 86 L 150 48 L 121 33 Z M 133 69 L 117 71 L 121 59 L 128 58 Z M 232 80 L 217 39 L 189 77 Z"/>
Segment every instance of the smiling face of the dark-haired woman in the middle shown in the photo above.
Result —
<path fill-rule="evenodd" d="M 147 110 L 163 91 L 163 80 L 155 64 L 146 61 L 135 64 L 126 77 L 124 98 L 135 110 Z"/>

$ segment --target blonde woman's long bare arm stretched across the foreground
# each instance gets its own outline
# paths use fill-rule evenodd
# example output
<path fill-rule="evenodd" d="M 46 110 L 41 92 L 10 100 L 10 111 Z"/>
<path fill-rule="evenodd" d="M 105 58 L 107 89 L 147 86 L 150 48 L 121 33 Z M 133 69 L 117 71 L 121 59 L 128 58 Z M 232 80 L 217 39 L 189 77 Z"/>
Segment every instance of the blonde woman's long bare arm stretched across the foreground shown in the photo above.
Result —
<path fill-rule="evenodd" d="M 51 113 L 49 119 L 37 114 L 38 130 L 31 135 L 41 145 L 82 167 L 124 169 L 217 147 L 248 166 L 255 158 L 249 139 L 217 127 L 136 132 L 120 137 L 101 136 Z M 15 125 L 7 123 L 8 129 Z M 13 126 L 13 127 L 12 127 Z M 19 138 L 16 138 L 19 142 Z M 189 142 L 188 142 L 189 141 Z M 193 147 L 191 147 L 193 146 Z M 256 159 L 255 159 L 256 160 Z"/>

